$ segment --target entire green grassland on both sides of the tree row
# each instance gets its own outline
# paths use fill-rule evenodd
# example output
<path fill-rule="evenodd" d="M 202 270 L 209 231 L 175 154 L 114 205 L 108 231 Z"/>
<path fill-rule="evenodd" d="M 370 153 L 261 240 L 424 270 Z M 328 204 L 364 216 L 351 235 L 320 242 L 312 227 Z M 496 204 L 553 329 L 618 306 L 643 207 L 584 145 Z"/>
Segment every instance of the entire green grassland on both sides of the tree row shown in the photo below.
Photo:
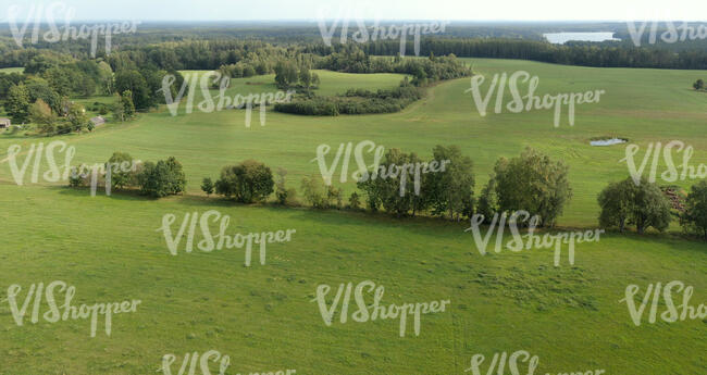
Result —
<path fill-rule="evenodd" d="M 24 297 L 30 284 L 52 280 L 75 285 L 76 303 L 142 301 L 137 313 L 114 316 L 111 337 L 99 332 L 96 338 L 89 338 L 87 321 L 16 326 L 3 302 L 0 374 L 149 374 L 166 353 L 177 355 L 177 367 L 186 352 L 211 349 L 231 355 L 228 374 L 284 368 L 298 374 L 464 374 L 475 353 L 486 355 L 485 372 L 495 352 L 516 350 L 539 357 L 538 374 L 599 368 L 625 375 L 704 374 L 705 321 L 644 320 L 635 326 L 627 304 L 619 302 L 630 284 L 640 285 L 643 297 L 648 284 L 681 280 L 695 289 L 691 304 L 704 303 L 703 242 L 656 234 L 605 235 L 599 242 L 578 245 L 573 266 L 563 253 L 561 266 L 554 267 L 551 250 L 481 257 L 464 233 L 466 223 L 244 207 L 199 191 L 202 177 L 216 177 L 222 166 L 245 159 L 287 168 L 288 185 L 299 187 L 302 176 L 319 174 L 310 162 L 319 145 L 331 145 L 335 152 L 342 142 L 362 140 L 424 157 L 437 143 L 458 145 L 475 163 L 480 190 L 498 158 L 532 146 L 570 165 L 574 197 L 560 225 L 593 227 L 596 195 L 608 182 L 625 178 L 628 168 L 619 163 L 623 146 L 593 148 L 590 138 L 627 137 L 642 151 L 648 142 L 682 140 L 695 148 L 692 164 L 707 163 L 707 97 L 690 89 L 707 72 L 469 62 L 488 78 L 519 70 L 537 75 L 539 95 L 595 89 L 606 95 L 598 104 L 580 105 L 573 127 L 563 116 L 559 128 L 553 127 L 551 111 L 482 117 L 464 92 L 469 79 L 459 79 L 387 115 L 310 117 L 269 110 L 265 126 L 253 112 L 246 127 L 244 111 L 171 116 L 162 109 L 87 135 L 0 136 L 0 160 L 10 145 L 26 149 L 61 139 L 76 147 L 76 163 L 104 162 L 116 150 L 141 160 L 174 155 L 188 178 L 184 197 L 91 198 L 86 190 L 33 185 L 28 178 L 26 186 L 16 186 L 8 163 L 0 164 L 5 228 L 0 301 L 9 285 L 22 285 Z M 320 77 L 325 89 L 326 78 Z M 362 79 L 370 88 L 394 87 L 400 76 L 340 78 L 338 92 Z M 272 80 L 262 79 L 265 85 Z M 354 182 L 343 185 L 348 196 Z M 182 247 L 171 255 L 156 230 L 163 215 L 177 215 L 176 230 L 184 214 L 208 210 L 231 215 L 230 234 L 297 233 L 292 242 L 268 246 L 265 265 L 245 267 L 243 250 L 185 253 Z M 386 305 L 448 299 L 450 309 L 423 315 L 419 337 L 409 322 L 400 338 L 397 320 L 340 324 L 336 314 L 326 327 L 311 302 L 317 287 L 332 286 L 331 302 L 339 283 L 369 279 L 385 287 Z"/>

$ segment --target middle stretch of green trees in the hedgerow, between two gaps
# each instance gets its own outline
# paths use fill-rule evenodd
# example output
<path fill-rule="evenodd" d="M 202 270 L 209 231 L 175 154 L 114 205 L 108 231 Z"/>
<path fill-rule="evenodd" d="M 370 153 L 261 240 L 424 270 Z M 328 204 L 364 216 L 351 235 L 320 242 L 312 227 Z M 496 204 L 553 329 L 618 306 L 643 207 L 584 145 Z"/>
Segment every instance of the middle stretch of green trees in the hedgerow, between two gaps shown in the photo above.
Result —
<path fill-rule="evenodd" d="M 539 215 L 541 225 L 551 226 L 571 198 L 568 167 L 533 149 L 511 160 L 500 159 L 477 201 L 471 159 L 456 146 L 436 146 L 432 153 L 432 160 L 425 161 L 414 152 L 387 150 L 377 168 L 369 170 L 357 183 L 367 209 L 396 216 L 426 213 L 450 220 L 471 217 L 475 212 L 491 217 L 495 213 L 525 210 Z M 432 162 L 445 167 L 419 175 L 414 167 L 400 168 Z M 286 187 L 286 171 L 278 171 L 278 175 L 275 183 L 270 167 L 249 160 L 225 166 L 215 183 L 204 178 L 201 188 L 208 195 L 215 192 L 243 203 L 263 202 L 275 192 L 278 203 L 298 204 L 297 190 Z M 327 185 L 321 176 L 305 177 L 300 189 L 305 202 L 313 208 L 344 207 L 343 190 Z M 347 207 L 359 209 L 363 197 L 352 192 Z"/>

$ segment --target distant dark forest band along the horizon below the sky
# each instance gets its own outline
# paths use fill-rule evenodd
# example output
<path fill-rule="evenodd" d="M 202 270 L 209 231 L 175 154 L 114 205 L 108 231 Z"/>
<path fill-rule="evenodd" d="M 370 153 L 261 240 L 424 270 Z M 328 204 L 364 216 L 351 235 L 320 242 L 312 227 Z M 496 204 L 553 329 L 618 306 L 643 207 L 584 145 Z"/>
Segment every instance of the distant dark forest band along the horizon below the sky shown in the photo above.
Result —
<path fill-rule="evenodd" d="M 452 24 L 444 34 L 423 36 L 420 54 L 454 53 L 463 58 L 523 59 L 598 67 L 707 68 L 707 39 L 704 38 L 674 43 L 661 42 L 658 38 L 657 43 L 650 45 L 649 33 L 646 32 L 642 36 L 641 47 L 635 47 L 624 24 L 560 26 Z M 348 33 L 356 29 L 351 26 Z M 622 41 L 553 45 L 544 40 L 543 32 L 559 29 L 610 30 Z M 657 34 L 663 32 L 665 26 L 661 25 Z M 399 39 L 357 43 L 349 38 L 347 43 L 340 45 L 337 43 L 339 33 L 335 33 L 333 45 L 326 46 L 319 28 L 312 25 L 270 28 L 264 24 L 240 25 L 234 29 L 223 25 L 201 29 L 194 25 L 151 25 L 138 28 L 136 34 L 115 36 L 113 52 L 109 57 L 99 38 L 97 58 L 110 60 L 113 70 L 120 70 L 116 65 L 127 57 L 138 64 L 149 63 L 162 70 L 215 70 L 221 65 L 246 62 L 256 72 L 262 73 L 272 72 L 274 60 L 283 58 L 324 58 L 352 47 L 360 48 L 368 55 L 396 55 L 400 51 Z M 413 38 L 408 38 L 408 55 L 414 51 L 413 43 Z M 89 59 L 89 40 L 49 43 L 40 39 L 34 45 L 26 40 L 25 46 L 28 48 L 18 48 L 9 34 L 0 36 L 0 67 L 24 66 L 33 57 L 46 50 L 77 60 Z"/>

